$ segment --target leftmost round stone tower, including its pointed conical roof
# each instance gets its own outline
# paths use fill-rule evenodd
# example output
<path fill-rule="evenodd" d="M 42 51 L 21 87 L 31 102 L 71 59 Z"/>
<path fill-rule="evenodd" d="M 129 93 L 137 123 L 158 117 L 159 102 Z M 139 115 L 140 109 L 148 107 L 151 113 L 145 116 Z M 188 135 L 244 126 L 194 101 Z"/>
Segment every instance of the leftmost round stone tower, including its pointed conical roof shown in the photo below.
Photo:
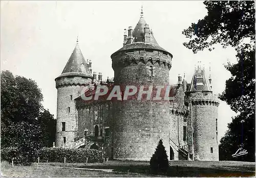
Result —
<path fill-rule="evenodd" d="M 91 63 L 90 63 L 91 65 Z M 77 137 L 77 112 L 74 99 L 81 88 L 92 83 L 93 76 L 77 44 L 61 75 L 55 79 L 57 88 L 56 146 L 68 147 Z"/>

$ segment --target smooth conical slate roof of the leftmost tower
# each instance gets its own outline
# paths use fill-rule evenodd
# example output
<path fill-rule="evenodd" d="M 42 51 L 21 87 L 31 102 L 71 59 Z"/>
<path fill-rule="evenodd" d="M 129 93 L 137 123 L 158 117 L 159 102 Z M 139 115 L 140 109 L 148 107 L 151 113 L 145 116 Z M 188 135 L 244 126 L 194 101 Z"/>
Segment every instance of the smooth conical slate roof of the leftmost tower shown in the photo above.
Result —
<path fill-rule="evenodd" d="M 64 76 L 82 76 L 93 78 L 78 44 L 76 44 L 65 68 L 63 69 L 61 75 L 59 75 L 59 77 Z"/>

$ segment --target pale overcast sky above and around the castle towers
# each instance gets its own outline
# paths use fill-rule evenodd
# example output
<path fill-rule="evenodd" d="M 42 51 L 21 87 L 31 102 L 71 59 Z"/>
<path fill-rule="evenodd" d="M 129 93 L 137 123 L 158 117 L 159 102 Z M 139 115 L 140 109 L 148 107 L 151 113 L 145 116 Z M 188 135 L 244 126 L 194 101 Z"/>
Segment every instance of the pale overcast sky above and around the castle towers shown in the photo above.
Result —
<path fill-rule="evenodd" d="M 141 5 L 144 18 L 161 47 L 173 54 L 170 84 L 186 73 L 188 83 L 195 64 L 211 63 L 212 89 L 225 89 L 231 74 L 224 65 L 236 62 L 232 47 L 193 54 L 182 45 L 182 31 L 207 14 L 203 1 L 1 1 L 1 70 L 33 79 L 44 95 L 43 105 L 56 118 L 54 79 L 62 72 L 79 37 L 85 59 L 103 79 L 114 77 L 111 54 L 122 47 L 123 30 L 136 26 Z M 208 72 L 209 73 L 209 72 Z M 219 106 L 219 140 L 235 113 L 225 102 Z"/>

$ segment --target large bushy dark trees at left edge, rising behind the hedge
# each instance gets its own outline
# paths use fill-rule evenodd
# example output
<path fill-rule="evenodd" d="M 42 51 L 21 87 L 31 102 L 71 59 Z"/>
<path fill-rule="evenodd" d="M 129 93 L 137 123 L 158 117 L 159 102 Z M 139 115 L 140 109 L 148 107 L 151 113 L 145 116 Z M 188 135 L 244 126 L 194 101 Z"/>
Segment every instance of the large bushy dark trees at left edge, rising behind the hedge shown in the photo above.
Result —
<path fill-rule="evenodd" d="M 52 146 L 56 121 L 41 105 L 42 94 L 35 81 L 1 72 L 1 147 L 17 150 L 24 163 L 35 151 Z"/>

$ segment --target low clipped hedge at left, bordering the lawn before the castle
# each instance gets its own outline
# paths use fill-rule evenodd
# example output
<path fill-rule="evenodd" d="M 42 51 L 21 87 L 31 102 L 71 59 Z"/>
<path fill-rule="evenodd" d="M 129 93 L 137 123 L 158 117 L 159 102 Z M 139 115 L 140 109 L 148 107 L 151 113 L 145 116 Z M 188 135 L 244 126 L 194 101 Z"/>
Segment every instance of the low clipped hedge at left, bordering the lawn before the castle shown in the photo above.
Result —
<path fill-rule="evenodd" d="M 23 164 L 26 160 L 26 153 L 20 152 L 15 147 L 3 148 L 1 150 L 1 157 L 3 161 L 12 162 L 14 159 L 15 164 Z M 88 163 L 98 162 L 101 158 L 101 151 L 96 149 L 85 149 L 85 148 L 62 148 L 62 147 L 51 147 L 41 148 L 37 150 L 33 156 L 33 161 L 36 162 L 39 157 L 40 162 L 64 162 L 66 157 L 66 163 Z"/>

